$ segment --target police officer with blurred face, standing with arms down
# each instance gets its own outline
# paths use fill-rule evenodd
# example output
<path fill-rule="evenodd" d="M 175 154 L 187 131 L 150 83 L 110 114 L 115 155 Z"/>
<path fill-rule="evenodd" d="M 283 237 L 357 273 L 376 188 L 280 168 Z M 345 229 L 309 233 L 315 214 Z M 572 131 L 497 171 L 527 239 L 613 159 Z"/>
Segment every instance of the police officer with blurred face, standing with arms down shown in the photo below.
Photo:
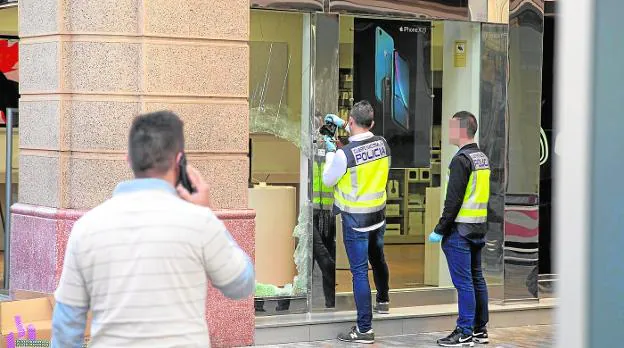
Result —
<path fill-rule="evenodd" d="M 449 142 L 459 147 L 449 165 L 444 211 L 429 241 L 442 241 L 453 285 L 457 289 L 457 328 L 439 339 L 443 347 L 488 343 L 488 292 L 481 270 L 487 232 L 490 164 L 474 141 L 477 119 L 467 111 L 453 115 Z"/>

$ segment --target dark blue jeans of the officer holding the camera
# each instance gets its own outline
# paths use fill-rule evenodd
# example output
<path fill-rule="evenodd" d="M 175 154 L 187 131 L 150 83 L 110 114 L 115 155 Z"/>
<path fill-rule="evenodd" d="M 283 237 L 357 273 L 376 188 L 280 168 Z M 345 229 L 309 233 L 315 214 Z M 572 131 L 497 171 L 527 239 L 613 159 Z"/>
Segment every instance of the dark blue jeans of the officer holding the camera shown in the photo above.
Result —
<path fill-rule="evenodd" d="M 355 220 L 347 214 L 343 214 L 342 232 L 351 274 L 353 275 L 357 325 L 360 332 L 367 332 L 371 329 L 373 320 L 371 289 L 368 282 L 369 262 L 373 268 L 377 302 L 389 302 L 389 273 L 383 252 L 386 225 L 384 224 L 381 228 L 369 232 L 356 231 L 353 226 L 355 226 Z"/>

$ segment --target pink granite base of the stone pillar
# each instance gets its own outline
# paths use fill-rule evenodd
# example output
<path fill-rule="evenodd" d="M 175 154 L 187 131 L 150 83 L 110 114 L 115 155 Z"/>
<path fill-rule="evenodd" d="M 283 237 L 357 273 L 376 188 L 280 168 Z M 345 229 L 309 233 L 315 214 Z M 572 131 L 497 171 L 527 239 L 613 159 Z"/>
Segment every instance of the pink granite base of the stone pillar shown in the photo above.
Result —
<path fill-rule="evenodd" d="M 11 288 L 49 293 L 56 289 L 71 228 L 84 212 L 26 204 L 13 206 Z M 255 213 L 252 210 L 220 210 L 217 216 L 225 222 L 241 248 L 254 259 Z M 206 318 L 214 347 L 253 344 L 253 298 L 232 301 L 210 287 Z"/>

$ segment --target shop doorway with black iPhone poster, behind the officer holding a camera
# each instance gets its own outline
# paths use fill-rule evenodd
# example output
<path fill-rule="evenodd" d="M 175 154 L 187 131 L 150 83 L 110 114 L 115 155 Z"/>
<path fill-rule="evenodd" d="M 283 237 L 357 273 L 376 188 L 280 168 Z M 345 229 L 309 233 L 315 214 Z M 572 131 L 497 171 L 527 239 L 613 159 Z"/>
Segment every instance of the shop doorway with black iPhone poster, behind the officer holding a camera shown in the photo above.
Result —
<path fill-rule="evenodd" d="M 348 119 L 354 102 L 368 100 L 375 111 L 372 132 L 384 136 L 392 151 L 384 235 L 390 288 L 423 287 L 425 197 L 434 185 L 436 156 L 431 150 L 431 25 L 348 16 L 340 22 L 339 115 Z M 337 229 L 336 292 L 348 298 L 351 273 L 340 223 Z M 369 282 L 375 289 L 371 269 Z"/>

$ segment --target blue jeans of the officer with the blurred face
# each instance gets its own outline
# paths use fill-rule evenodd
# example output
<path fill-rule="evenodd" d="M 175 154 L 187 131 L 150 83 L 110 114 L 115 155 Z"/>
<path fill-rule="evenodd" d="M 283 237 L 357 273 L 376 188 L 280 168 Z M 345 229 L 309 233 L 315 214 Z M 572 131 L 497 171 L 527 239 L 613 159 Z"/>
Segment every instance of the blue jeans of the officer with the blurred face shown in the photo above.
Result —
<path fill-rule="evenodd" d="M 457 326 L 465 334 L 485 327 L 489 321 L 487 285 L 481 270 L 481 250 L 484 246 L 484 240 L 464 238 L 457 231 L 442 240 L 442 250 L 457 289 Z"/>

